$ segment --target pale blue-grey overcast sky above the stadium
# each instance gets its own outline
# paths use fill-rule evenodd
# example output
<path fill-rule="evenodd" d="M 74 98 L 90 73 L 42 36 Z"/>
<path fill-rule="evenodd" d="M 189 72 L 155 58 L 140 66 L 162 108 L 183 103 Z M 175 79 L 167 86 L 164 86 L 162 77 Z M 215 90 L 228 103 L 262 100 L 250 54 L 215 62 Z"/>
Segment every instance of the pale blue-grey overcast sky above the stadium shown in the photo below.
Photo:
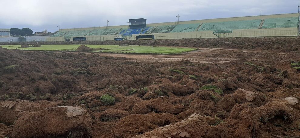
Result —
<path fill-rule="evenodd" d="M 297 13 L 300 0 L 0 0 L 0 28 L 60 28 Z"/>

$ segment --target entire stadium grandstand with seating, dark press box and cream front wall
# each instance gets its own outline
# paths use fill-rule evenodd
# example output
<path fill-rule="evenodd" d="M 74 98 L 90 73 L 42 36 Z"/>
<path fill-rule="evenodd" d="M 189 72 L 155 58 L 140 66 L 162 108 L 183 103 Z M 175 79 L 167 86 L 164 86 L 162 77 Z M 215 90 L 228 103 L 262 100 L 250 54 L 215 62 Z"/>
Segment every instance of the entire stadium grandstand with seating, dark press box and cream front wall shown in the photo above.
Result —
<path fill-rule="evenodd" d="M 129 25 L 60 29 L 47 41 L 87 41 L 224 37 L 298 36 L 299 14 L 247 16 L 147 24 L 146 19 L 130 19 Z M 140 37 L 142 36 L 142 37 Z M 153 37 L 154 36 L 154 37 Z"/>

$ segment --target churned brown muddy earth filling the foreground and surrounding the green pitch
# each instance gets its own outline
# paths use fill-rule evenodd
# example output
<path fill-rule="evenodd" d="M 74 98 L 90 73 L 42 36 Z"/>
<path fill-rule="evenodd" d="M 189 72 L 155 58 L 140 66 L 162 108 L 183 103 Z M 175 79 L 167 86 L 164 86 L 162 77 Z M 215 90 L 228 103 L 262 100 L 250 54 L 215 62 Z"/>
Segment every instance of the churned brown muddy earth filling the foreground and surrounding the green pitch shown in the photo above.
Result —
<path fill-rule="evenodd" d="M 299 39 L 222 41 L 180 55 L 0 48 L 0 137 L 298 138 Z"/>

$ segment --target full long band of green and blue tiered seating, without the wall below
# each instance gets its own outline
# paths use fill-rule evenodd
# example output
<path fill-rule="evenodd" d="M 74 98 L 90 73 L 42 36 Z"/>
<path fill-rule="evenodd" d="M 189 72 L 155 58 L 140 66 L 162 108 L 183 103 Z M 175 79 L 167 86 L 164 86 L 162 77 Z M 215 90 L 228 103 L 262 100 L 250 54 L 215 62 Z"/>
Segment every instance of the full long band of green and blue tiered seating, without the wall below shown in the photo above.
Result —
<path fill-rule="evenodd" d="M 178 24 L 178 25 L 161 25 L 154 27 L 146 27 L 142 29 L 128 28 L 110 28 L 110 29 L 90 29 L 77 30 L 69 29 L 68 31 L 59 31 L 52 37 L 66 38 L 88 36 L 88 35 L 124 35 L 132 36 L 133 34 L 154 34 L 154 33 L 179 33 L 191 31 L 213 31 L 213 33 L 229 33 L 237 29 L 268 29 L 268 28 L 290 28 L 298 27 L 298 17 L 288 18 L 270 18 L 257 20 L 242 20 L 242 21 L 223 21 L 223 22 L 208 22 L 197 24 Z M 76 29 L 75 29 L 76 30 Z"/>

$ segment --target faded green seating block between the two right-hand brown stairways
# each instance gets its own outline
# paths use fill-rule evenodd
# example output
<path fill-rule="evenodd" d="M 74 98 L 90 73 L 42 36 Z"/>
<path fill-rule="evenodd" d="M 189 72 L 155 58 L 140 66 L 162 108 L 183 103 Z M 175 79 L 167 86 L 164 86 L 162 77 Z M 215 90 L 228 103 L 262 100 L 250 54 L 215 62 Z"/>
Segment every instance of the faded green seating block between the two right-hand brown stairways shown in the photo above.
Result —
<path fill-rule="evenodd" d="M 198 31 L 225 31 L 235 29 L 257 29 L 261 20 L 224 21 L 203 23 Z"/>

